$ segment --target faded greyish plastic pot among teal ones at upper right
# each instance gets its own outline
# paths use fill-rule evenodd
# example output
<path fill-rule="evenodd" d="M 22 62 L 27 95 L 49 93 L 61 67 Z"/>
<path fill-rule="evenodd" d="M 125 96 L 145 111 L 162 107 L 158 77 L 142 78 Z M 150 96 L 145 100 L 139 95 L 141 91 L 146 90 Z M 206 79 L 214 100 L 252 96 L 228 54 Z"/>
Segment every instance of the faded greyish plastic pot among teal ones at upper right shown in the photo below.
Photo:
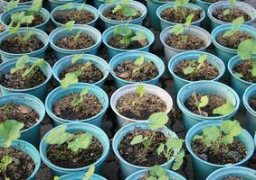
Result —
<path fill-rule="evenodd" d="M 160 40 L 161 40 L 162 44 L 164 45 L 164 49 L 165 49 L 166 63 L 168 63 L 169 59 L 173 58 L 176 54 L 188 51 L 188 50 L 183 50 L 183 49 L 175 49 L 166 44 L 166 39 L 171 34 L 170 30 L 173 27 L 174 26 L 167 27 L 164 31 L 161 31 L 161 34 L 160 34 Z M 204 40 L 206 46 L 202 49 L 196 49 L 196 50 L 205 51 L 205 49 L 208 48 L 210 46 L 210 44 L 212 43 L 211 34 L 208 31 L 204 30 L 203 28 L 200 28 L 200 27 L 197 27 L 194 25 L 190 26 L 190 30 L 188 28 L 186 28 L 185 26 L 183 28 L 185 30 L 185 33 L 189 31 L 190 34 L 193 34 L 193 35 L 200 37 Z"/>

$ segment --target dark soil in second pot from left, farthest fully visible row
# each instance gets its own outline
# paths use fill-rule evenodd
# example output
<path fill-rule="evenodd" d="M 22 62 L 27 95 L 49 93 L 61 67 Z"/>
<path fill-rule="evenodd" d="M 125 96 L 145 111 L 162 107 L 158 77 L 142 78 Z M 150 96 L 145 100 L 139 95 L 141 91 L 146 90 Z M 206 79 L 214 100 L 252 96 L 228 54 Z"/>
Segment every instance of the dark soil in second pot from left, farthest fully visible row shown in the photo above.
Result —
<path fill-rule="evenodd" d="M 54 20 L 58 23 L 68 23 L 75 21 L 77 24 L 86 24 L 92 22 L 95 17 L 90 11 L 65 10 L 57 11 L 53 14 Z"/>

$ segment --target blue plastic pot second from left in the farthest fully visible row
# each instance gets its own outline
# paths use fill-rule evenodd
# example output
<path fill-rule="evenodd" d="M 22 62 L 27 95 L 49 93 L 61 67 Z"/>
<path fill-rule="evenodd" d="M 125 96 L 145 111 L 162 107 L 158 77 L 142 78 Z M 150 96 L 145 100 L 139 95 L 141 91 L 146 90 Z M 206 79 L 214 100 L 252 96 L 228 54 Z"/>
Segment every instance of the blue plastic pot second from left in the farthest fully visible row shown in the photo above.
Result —
<path fill-rule="evenodd" d="M 95 27 L 96 22 L 97 22 L 97 20 L 99 19 L 98 10 L 97 10 L 95 7 L 93 7 L 93 6 L 89 5 L 89 4 L 73 4 L 73 6 L 72 6 L 71 9 L 74 9 L 74 10 L 75 10 L 75 9 L 77 9 L 78 7 L 80 7 L 81 5 L 83 5 L 85 11 L 88 11 L 88 12 L 90 12 L 90 13 L 92 13 L 92 14 L 94 15 L 94 20 L 93 20 L 92 22 L 86 23 L 86 24 L 87 24 L 87 25 L 90 25 L 90 26 L 92 26 L 92 27 Z M 52 20 L 52 23 L 54 23 L 54 25 L 55 25 L 57 28 L 62 27 L 62 23 L 58 23 L 58 22 L 55 21 L 55 19 L 54 19 L 54 14 L 56 14 L 56 12 L 58 12 L 58 11 L 67 11 L 67 10 L 63 10 L 62 8 L 63 8 L 63 5 L 58 6 L 58 7 L 56 7 L 55 9 L 53 9 L 52 12 L 51 12 L 51 20 Z"/>

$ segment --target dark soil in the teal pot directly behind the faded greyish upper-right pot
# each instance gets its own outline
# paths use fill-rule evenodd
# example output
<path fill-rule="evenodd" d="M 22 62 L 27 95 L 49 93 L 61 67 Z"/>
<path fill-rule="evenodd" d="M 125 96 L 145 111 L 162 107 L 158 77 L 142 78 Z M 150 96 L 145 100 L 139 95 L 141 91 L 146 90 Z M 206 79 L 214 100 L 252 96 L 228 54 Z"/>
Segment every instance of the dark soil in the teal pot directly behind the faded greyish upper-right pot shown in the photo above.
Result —
<path fill-rule="evenodd" d="M 192 19 L 192 22 L 197 22 L 201 19 L 202 9 L 194 10 L 192 8 L 186 8 L 185 7 L 185 17 L 187 17 L 190 14 L 194 14 L 194 18 Z M 185 23 L 185 17 L 182 14 L 182 8 L 177 7 L 175 8 L 166 8 L 161 14 L 161 17 L 172 23 Z"/>

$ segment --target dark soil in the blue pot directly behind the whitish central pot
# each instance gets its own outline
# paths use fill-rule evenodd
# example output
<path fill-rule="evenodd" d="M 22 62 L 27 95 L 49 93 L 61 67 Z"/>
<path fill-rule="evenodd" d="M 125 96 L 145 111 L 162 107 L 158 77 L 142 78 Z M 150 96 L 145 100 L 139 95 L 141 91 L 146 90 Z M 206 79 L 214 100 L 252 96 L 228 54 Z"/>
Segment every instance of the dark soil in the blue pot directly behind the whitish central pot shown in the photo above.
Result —
<path fill-rule="evenodd" d="M 114 73 L 116 76 L 119 76 L 127 81 L 137 82 L 147 81 L 155 78 L 158 75 L 158 70 L 153 62 L 144 61 L 143 65 L 139 67 L 139 71 L 133 73 L 133 69 L 135 67 L 137 66 L 134 64 L 134 61 L 127 60 L 115 67 Z"/>

